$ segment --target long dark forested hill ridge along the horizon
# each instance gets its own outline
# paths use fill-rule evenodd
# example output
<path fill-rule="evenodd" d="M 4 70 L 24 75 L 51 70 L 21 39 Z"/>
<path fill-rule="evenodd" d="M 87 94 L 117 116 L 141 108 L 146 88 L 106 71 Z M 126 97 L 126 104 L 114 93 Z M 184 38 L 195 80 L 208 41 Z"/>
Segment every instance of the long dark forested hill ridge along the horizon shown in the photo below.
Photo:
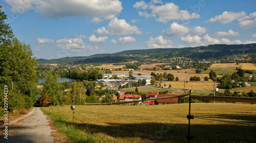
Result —
<path fill-rule="evenodd" d="M 94 54 L 91 56 L 66 57 L 40 61 L 47 64 L 87 64 L 87 63 L 119 63 L 133 60 L 152 60 L 158 58 L 195 58 L 198 60 L 223 58 L 227 55 L 239 55 L 246 53 L 256 53 L 256 44 L 226 45 L 215 44 L 199 47 L 186 48 L 164 48 L 164 49 L 143 49 L 126 50 L 112 54 Z"/>

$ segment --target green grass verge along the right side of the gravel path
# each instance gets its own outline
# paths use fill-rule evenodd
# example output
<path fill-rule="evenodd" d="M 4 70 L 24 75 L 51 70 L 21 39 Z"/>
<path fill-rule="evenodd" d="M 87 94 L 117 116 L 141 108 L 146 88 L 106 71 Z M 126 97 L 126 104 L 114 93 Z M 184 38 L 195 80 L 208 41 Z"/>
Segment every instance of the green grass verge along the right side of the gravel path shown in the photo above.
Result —
<path fill-rule="evenodd" d="M 54 121 L 53 124 L 59 128 L 58 132 L 65 133 L 72 142 L 104 142 L 102 137 L 96 137 L 91 134 L 88 131 L 88 127 L 78 127 L 77 124 L 68 122 L 65 117 L 57 113 L 46 111 L 42 108 L 41 110 L 51 117 Z"/>

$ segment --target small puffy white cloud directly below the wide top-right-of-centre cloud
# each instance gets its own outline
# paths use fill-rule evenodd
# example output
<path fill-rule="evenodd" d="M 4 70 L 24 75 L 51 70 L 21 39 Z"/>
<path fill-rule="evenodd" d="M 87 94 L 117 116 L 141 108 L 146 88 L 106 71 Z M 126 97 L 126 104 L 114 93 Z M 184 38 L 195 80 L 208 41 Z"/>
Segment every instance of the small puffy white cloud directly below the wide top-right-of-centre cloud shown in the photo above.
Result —
<path fill-rule="evenodd" d="M 170 24 L 170 28 L 167 30 L 163 30 L 162 34 L 167 35 L 167 36 L 176 36 L 176 35 L 184 35 L 189 32 L 189 28 L 179 25 L 176 22 L 173 22 Z"/>

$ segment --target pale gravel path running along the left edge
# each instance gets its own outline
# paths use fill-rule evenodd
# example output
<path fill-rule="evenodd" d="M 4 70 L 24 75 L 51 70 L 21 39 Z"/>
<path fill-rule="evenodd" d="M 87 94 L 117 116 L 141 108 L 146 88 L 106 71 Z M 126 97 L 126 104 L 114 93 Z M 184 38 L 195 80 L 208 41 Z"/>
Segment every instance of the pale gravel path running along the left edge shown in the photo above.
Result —
<path fill-rule="evenodd" d="M 4 126 L 1 127 L 1 130 Z M 49 121 L 40 108 L 35 107 L 26 116 L 8 123 L 8 139 L 1 134 L 0 142 L 50 143 L 54 137 Z"/>

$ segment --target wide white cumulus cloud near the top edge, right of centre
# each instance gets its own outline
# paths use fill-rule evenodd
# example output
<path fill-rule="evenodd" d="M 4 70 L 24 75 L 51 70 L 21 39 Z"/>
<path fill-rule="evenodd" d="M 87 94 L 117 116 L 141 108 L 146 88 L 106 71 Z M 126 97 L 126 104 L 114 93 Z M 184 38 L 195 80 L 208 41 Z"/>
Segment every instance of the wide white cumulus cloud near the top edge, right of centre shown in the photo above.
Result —
<path fill-rule="evenodd" d="M 161 1 L 152 1 L 150 3 L 145 3 L 144 1 L 136 2 L 133 7 L 139 11 L 140 16 L 155 17 L 156 21 L 166 23 L 171 20 L 189 20 L 194 18 L 200 18 L 197 13 L 189 13 L 187 10 L 180 10 L 180 7 L 174 3 L 165 3 L 164 5 L 156 6 L 156 3 L 161 3 Z M 148 13 L 146 10 L 151 10 Z"/>

